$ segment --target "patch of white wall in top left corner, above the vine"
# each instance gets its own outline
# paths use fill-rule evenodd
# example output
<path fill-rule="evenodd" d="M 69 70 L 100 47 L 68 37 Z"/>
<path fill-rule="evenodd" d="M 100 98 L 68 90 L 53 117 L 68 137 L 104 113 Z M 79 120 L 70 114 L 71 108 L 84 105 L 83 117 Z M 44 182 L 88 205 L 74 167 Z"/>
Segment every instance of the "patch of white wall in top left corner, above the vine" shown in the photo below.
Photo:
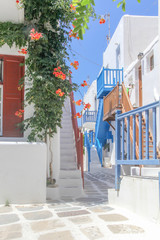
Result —
<path fill-rule="evenodd" d="M 24 22 L 24 9 L 19 9 L 15 0 L 0 0 L 0 22 Z"/>

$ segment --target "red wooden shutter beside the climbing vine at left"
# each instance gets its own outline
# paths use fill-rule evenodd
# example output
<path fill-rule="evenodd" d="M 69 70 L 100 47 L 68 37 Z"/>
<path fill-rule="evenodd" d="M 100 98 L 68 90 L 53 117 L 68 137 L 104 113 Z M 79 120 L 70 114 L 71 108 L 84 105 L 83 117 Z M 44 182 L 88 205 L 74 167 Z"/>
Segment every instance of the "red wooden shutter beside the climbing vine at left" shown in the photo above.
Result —
<path fill-rule="evenodd" d="M 22 137 L 23 133 L 17 127 L 23 118 L 15 116 L 22 109 L 24 91 L 18 90 L 19 80 L 24 76 L 24 57 L 0 55 L 4 60 L 3 78 L 3 137 Z"/>

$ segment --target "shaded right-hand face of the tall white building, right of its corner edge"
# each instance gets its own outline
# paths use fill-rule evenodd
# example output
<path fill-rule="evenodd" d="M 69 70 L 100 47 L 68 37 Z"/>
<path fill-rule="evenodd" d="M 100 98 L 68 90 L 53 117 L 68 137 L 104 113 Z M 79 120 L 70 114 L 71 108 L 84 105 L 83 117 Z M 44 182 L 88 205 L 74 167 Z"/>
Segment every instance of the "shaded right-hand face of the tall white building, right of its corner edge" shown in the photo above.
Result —
<path fill-rule="evenodd" d="M 158 17 L 129 15 L 124 17 L 124 69 L 145 50 L 157 34 Z"/>

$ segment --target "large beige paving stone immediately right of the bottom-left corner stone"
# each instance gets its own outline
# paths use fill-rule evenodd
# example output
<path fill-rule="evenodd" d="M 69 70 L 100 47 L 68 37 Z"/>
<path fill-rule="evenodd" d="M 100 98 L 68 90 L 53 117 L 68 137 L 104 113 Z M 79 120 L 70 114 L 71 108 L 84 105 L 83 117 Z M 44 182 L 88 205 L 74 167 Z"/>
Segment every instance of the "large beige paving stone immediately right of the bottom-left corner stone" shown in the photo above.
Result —
<path fill-rule="evenodd" d="M 48 231 L 60 227 L 65 227 L 65 224 L 59 219 L 31 223 L 31 228 L 34 232 Z"/>

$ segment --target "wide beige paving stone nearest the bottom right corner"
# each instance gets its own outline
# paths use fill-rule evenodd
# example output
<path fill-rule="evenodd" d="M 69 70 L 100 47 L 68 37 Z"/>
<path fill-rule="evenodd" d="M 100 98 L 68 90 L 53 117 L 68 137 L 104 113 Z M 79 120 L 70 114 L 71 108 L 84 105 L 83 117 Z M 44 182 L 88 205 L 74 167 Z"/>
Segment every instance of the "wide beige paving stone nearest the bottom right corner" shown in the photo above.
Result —
<path fill-rule="evenodd" d="M 107 227 L 112 233 L 115 233 L 115 234 L 144 233 L 144 229 L 135 225 L 118 224 L 118 225 L 108 225 Z"/>

